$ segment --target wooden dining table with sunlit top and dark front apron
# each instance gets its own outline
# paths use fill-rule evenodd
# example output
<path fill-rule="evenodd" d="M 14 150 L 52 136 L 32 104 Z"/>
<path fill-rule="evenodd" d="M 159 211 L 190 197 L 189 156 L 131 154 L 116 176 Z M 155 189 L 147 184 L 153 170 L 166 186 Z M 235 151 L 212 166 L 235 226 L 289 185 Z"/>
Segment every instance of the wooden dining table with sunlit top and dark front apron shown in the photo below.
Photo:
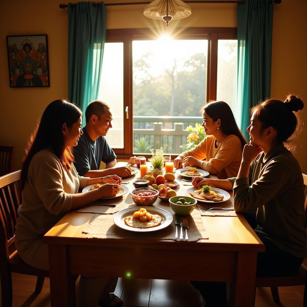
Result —
<path fill-rule="evenodd" d="M 136 177 L 125 179 L 129 189 Z M 187 188 L 181 184 L 177 195 Z M 44 236 L 52 306 L 75 306 L 77 275 L 125 278 L 128 271 L 134 278 L 229 282 L 229 306 L 254 306 L 257 253 L 265 247 L 241 214 L 202 216 L 208 239 L 197 242 L 88 238 L 82 231 L 92 216 L 70 211 Z"/>

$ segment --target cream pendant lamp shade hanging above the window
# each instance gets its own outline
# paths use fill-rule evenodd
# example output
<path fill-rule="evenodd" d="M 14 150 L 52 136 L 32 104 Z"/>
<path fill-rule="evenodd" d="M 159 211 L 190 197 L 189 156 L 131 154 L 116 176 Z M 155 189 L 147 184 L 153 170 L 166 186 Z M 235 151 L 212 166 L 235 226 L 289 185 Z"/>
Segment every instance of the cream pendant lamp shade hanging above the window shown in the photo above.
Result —
<path fill-rule="evenodd" d="M 191 15 L 191 7 L 181 0 L 154 0 L 144 8 L 144 15 L 152 19 L 169 21 Z"/>

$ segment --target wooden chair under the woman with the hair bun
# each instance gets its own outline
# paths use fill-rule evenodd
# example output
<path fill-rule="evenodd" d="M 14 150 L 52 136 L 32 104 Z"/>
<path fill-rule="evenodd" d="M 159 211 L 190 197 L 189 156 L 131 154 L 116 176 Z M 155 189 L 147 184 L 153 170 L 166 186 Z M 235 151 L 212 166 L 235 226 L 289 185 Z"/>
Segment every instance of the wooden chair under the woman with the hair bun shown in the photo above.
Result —
<path fill-rule="evenodd" d="M 303 174 L 304 186 L 307 187 L 307 175 Z M 307 226 L 307 195 L 305 197 L 305 230 Z M 285 276 L 265 276 L 256 278 L 256 287 L 270 287 L 273 300 L 279 302 L 278 287 L 305 286 L 303 306 L 307 306 L 307 267 L 302 264 L 293 274 Z"/>

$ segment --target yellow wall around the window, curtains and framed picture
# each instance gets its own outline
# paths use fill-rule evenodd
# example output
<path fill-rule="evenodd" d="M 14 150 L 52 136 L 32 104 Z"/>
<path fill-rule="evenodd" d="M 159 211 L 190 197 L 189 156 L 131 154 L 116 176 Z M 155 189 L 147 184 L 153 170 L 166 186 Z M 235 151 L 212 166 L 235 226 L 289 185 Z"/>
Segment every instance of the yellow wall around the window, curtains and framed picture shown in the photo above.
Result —
<path fill-rule="evenodd" d="M 126 2 L 108 0 L 107 2 Z M 135 1 L 137 2 L 137 1 Z M 16 146 L 15 169 L 21 166 L 27 139 L 45 107 L 54 99 L 68 97 L 68 17 L 58 0 L 15 0 L 0 2 L 0 144 Z M 63 1 L 62 1 L 63 3 Z M 66 2 L 67 3 L 67 2 Z M 191 4 L 192 15 L 171 21 L 175 27 L 236 27 L 235 4 Z M 300 94 L 307 103 L 305 84 L 306 29 L 305 0 L 282 0 L 274 6 L 271 94 L 282 99 L 288 92 Z M 107 6 L 107 28 L 164 27 L 162 21 L 143 16 L 144 5 Z M 6 35 L 48 34 L 49 88 L 10 88 Z M 305 49 L 305 50 L 304 50 Z M 306 121 L 307 112 L 303 113 Z M 281 119 L 282 120 L 282 119 Z M 286 124 L 286 123 L 285 123 Z M 297 158 L 307 173 L 307 131 L 301 134 Z"/>

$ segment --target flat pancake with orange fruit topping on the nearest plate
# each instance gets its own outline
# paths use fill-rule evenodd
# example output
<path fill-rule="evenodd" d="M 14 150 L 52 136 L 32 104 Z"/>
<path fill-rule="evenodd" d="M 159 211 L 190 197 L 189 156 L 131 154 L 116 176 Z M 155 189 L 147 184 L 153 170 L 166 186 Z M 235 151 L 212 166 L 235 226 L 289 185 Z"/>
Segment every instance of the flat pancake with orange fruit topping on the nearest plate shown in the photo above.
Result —
<path fill-rule="evenodd" d="M 162 222 L 161 216 L 147 212 L 145 208 L 135 211 L 133 216 L 124 218 L 126 225 L 135 228 L 151 228 L 159 226 Z"/>

